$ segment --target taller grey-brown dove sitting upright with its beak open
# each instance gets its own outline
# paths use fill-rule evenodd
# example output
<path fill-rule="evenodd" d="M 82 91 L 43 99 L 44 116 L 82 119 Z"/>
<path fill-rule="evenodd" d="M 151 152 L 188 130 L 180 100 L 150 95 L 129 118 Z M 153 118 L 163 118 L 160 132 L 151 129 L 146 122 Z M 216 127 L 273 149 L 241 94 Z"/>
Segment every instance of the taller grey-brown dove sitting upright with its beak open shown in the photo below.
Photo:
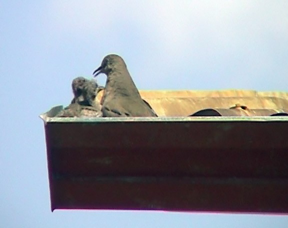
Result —
<path fill-rule="evenodd" d="M 124 60 L 109 54 L 93 72 L 94 76 L 104 73 L 107 76 L 102 98 L 102 113 L 106 117 L 157 117 L 154 110 L 143 101 L 136 88 Z"/>

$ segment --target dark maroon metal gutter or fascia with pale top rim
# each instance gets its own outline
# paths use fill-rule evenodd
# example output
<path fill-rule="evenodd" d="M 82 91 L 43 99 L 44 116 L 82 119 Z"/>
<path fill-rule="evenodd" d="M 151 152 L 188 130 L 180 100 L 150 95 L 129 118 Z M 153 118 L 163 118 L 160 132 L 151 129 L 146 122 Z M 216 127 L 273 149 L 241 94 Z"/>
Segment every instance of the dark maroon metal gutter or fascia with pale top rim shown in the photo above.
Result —
<path fill-rule="evenodd" d="M 288 213 L 288 117 L 44 122 L 52 210 Z"/>

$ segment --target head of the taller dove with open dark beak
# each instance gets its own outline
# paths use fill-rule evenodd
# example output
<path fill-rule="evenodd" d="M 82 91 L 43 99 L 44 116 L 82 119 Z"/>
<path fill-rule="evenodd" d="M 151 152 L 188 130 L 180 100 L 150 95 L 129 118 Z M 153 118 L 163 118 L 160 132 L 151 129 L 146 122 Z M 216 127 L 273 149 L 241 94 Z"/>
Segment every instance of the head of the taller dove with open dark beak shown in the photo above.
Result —
<path fill-rule="evenodd" d="M 103 58 L 101 65 L 94 70 L 93 76 L 95 77 L 100 73 L 105 73 L 106 75 L 108 75 L 109 72 L 117 68 L 117 65 L 123 64 L 126 67 L 124 60 L 119 55 L 108 54 Z"/>

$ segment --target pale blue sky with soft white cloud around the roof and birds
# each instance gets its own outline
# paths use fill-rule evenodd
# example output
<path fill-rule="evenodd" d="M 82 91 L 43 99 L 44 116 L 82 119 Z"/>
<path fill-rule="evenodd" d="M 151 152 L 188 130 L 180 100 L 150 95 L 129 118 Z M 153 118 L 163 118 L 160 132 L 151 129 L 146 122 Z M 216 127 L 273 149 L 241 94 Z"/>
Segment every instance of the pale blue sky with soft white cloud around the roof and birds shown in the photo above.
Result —
<path fill-rule="evenodd" d="M 288 227 L 288 215 L 51 212 L 38 115 L 108 53 L 139 89 L 287 91 L 288 1 L 0 0 L 0 227 Z"/>

